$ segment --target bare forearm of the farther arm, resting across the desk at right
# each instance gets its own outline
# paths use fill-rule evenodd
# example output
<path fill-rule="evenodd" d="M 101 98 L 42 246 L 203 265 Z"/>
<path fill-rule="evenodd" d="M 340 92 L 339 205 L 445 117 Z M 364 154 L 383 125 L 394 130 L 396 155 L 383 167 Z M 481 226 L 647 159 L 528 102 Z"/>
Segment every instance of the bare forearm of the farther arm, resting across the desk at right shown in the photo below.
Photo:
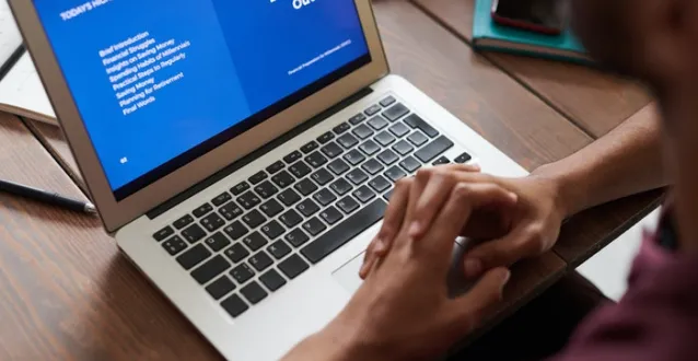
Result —
<path fill-rule="evenodd" d="M 555 179 L 566 216 L 665 186 L 654 108 L 643 109 L 586 148 L 534 174 Z"/>

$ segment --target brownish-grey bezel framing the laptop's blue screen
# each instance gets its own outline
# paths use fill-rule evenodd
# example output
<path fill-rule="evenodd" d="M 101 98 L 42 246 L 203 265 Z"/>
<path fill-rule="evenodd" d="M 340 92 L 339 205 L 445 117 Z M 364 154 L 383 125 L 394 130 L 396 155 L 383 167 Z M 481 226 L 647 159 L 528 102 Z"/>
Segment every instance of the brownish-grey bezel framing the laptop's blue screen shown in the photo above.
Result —
<path fill-rule="evenodd" d="M 168 175 L 117 201 L 93 148 L 33 1 L 9 0 L 105 229 L 115 232 L 175 195 L 295 128 L 388 73 L 370 0 L 354 0 L 371 61 Z"/>

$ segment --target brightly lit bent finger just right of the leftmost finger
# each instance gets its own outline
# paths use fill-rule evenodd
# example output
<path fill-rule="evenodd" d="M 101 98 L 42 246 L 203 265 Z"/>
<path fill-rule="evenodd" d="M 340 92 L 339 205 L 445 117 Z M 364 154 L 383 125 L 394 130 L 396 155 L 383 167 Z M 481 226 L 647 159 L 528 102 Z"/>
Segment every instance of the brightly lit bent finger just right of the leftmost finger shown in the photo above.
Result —
<path fill-rule="evenodd" d="M 429 180 L 415 203 L 414 221 L 408 228 L 408 235 L 415 238 L 422 236 L 451 195 L 455 177 L 449 171 L 426 170 Z M 453 172 L 451 172 L 453 174 Z"/>

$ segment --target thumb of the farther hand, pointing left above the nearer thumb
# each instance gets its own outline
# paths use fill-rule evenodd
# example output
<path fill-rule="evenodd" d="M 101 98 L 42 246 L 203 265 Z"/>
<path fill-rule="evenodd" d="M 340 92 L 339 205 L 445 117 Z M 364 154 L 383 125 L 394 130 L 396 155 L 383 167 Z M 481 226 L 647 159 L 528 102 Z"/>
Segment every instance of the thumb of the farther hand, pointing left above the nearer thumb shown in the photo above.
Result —
<path fill-rule="evenodd" d="M 517 226 L 499 240 L 485 242 L 466 254 L 465 278 L 474 279 L 486 269 L 509 267 L 522 258 L 535 256 L 543 252 L 543 241 L 540 232 Z"/>

